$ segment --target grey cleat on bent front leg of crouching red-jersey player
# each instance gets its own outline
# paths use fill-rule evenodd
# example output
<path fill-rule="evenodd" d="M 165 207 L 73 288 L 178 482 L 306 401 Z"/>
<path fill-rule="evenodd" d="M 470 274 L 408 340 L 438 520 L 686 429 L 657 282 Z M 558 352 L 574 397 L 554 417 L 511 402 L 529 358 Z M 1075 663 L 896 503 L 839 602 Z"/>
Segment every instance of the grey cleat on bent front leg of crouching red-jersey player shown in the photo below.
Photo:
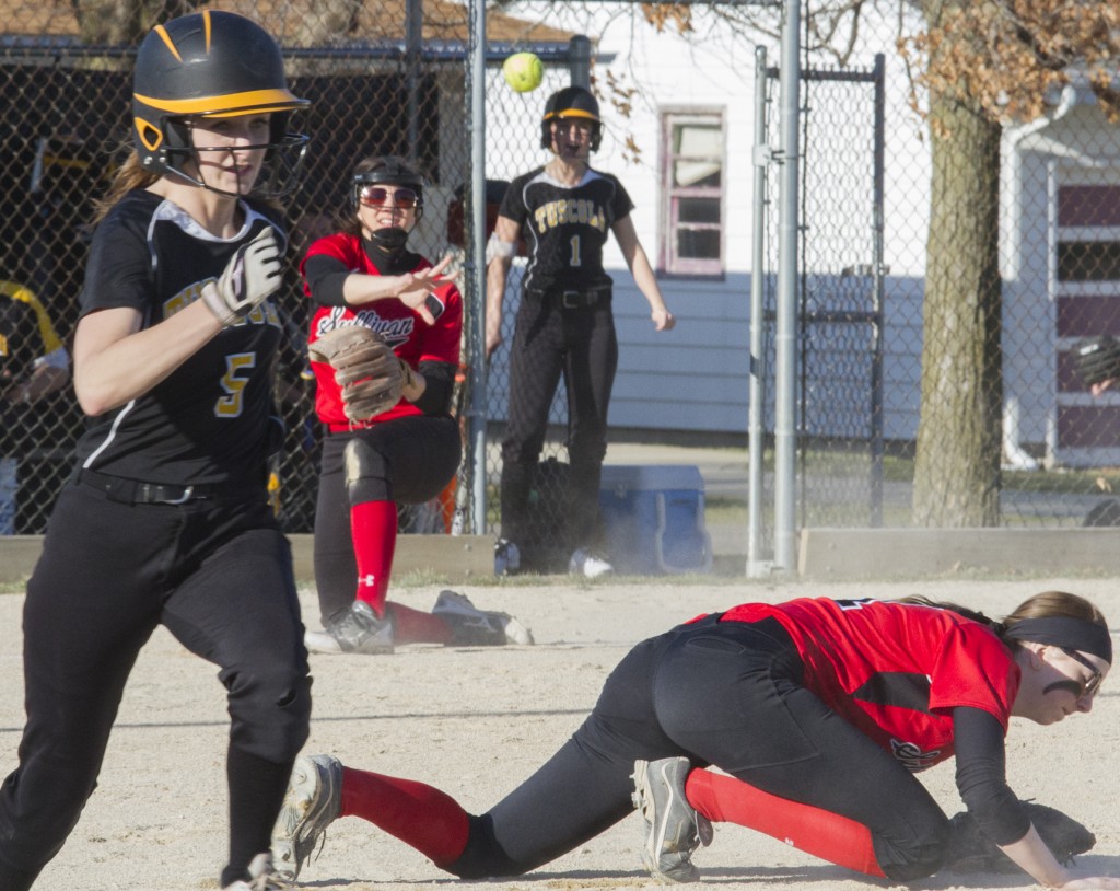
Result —
<path fill-rule="evenodd" d="M 663 884 L 699 881 L 692 852 L 713 835 L 711 822 L 684 797 L 691 770 L 687 758 L 634 762 L 634 807 L 645 820 L 642 862 Z"/>

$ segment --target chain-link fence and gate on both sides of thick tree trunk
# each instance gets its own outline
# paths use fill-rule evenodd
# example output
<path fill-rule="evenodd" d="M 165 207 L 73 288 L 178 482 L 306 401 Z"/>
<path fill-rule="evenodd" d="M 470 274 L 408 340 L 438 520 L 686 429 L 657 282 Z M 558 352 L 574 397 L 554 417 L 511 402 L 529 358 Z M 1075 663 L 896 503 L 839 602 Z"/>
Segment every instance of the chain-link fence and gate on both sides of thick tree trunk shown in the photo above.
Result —
<path fill-rule="evenodd" d="M 949 361 L 962 336 L 952 318 L 923 318 L 931 170 L 922 139 L 928 137 L 907 108 L 906 90 L 884 83 L 881 57 L 862 68 L 806 67 L 802 75 L 799 526 L 924 525 L 913 507 L 923 346 Z M 778 141 L 777 76 L 767 72 L 771 146 Z M 1120 335 L 1120 131 L 1088 89 L 1070 86 L 1047 119 L 1005 127 L 993 167 L 1001 177 L 999 231 L 991 232 L 1000 281 L 997 316 L 984 324 L 998 332 L 999 349 L 993 373 L 979 379 L 998 389 L 973 401 L 1002 407 L 1001 458 L 978 484 L 998 491 L 1001 526 L 1120 525 L 1120 393 L 1092 395 L 1074 363 L 1085 338 Z M 763 270 L 767 434 L 777 188 L 771 175 Z M 950 452 L 953 435 L 945 430 L 939 440 L 935 433 L 934 448 Z M 769 467 L 768 437 L 763 447 Z M 773 475 L 764 482 L 764 502 L 772 503 Z M 763 520 L 768 541 L 772 517 Z"/>

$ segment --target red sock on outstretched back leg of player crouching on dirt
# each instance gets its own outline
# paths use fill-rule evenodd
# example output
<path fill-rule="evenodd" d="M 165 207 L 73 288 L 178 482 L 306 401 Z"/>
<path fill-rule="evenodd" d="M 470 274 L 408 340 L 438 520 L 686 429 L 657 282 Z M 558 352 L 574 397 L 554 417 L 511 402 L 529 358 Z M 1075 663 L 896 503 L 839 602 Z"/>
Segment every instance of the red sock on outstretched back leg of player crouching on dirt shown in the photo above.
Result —
<path fill-rule="evenodd" d="M 467 811 L 431 786 L 345 768 L 342 797 L 339 816 L 368 820 L 440 869 L 455 863 L 467 846 Z"/>

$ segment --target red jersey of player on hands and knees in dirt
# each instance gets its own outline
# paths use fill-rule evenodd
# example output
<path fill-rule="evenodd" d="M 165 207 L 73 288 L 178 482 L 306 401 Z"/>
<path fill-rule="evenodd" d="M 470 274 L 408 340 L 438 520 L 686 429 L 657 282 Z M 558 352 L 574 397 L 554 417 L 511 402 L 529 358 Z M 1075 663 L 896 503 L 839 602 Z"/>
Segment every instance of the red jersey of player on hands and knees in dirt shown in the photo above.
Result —
<path fill-rule="evenodd" d="M 1007 732 L 1019 667 L 980 622 L 922 604 L 828 598 L 743 604 L 721 621 L 768 618 L 793 639 L 805 687 L 909 770 L 952 757 L 956 706 L 990 713 Z"/>

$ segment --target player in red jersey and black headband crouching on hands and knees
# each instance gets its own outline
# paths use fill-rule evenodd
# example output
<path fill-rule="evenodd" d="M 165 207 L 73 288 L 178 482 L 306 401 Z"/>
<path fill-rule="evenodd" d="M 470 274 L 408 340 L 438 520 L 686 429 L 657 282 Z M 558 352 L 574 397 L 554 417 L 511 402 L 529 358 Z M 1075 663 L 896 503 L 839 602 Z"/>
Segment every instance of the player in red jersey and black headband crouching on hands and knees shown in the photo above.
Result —
<path fill-rule="evenodd" d="M 691 856 L 721 823 L 892 884 L 998 846 L 1048 888 L 1120 889 L 1060 863 L 1034 823 L 1055 820 L 1006 776 L 1010 718 L 1088 714 L 1111 663 L 1100 610 L 1061 591 L 999 622 L 922 597 L 745 603 L 634 647 L 575 734 L 483 814 L 301 755 L 272 851 L 295 878 L 334 820 L 357 817 L 452 875 L 520 875 L 636 806 L 643 863 L 666 883 L 697 881 Z M 949 759 L 967 807 L 953 818 L 915 776 Z"/>

